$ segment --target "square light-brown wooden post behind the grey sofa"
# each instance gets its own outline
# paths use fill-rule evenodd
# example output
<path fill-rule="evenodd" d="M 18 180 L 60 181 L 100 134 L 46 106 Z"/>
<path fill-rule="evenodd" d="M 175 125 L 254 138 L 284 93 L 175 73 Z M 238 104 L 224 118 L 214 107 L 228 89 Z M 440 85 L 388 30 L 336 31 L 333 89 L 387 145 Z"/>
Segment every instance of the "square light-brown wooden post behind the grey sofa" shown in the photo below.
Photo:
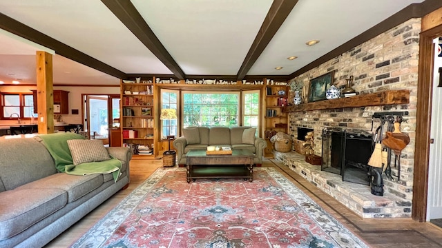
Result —
<path fill-rule="evenodd" d="M 37 51 L 36 58 L 39 134 L 52 134 L 54 132 L 52 54 Z"/>

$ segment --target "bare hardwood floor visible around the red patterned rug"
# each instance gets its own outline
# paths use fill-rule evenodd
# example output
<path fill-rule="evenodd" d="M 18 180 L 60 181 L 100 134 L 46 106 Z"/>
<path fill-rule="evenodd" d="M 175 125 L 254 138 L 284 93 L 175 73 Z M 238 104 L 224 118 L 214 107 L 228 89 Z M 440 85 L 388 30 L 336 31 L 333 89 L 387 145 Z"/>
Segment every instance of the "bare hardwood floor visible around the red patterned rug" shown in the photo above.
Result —
<path fill-rule="evenodd" d="M 369 247 L 442 247 L 442 229 L 431 223 L 418 223 L 412 219 L 363 219 L 334 198 L 320 191 L 304 178 L 278 161 L 265 160 L 263 167 L 275 167 L 305 194 L 316 201 L 329 214 L 363 239 Z M 70 247 L 90 227 L 130 194 L 155 169 L 162 167 L 161 159 L 133 158 L 131 161 L 131 183 L 125 190 L 117 192 L 102 205 L 82 218 L 78 223 L 52 240 L 46 247 Z"/>

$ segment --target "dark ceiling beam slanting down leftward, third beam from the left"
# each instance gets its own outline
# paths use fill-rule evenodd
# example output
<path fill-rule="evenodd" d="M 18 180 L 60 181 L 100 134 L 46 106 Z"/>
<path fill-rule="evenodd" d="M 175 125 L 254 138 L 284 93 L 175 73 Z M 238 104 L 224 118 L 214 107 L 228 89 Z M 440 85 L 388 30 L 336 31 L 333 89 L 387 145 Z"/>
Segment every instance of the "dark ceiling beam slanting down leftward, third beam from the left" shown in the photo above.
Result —
<path fill-rule="evenodd" d="M 274 0 L 269 12 L 261 25 L 256 38 L 253 41 L 249 52 L 242 62 L 240 70 L 236 75 L 237 80 L 244 79 L 258 57 L 265 50 L 269 42 L 276 34 L 282 23 L 289 16 L 291 10 L 296 6 L 298 0 Z"/>

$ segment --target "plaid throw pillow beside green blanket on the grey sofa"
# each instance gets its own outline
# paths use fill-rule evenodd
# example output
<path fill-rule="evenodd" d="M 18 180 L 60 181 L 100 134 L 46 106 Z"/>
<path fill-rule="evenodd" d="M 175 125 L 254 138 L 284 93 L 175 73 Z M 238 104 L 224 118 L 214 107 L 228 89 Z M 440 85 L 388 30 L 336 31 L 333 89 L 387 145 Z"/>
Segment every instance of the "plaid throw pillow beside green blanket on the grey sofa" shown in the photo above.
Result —
<path fill-rule="evenodd" d="M 111 159 L 100 140 L 73 139 L 67 142 L 74 165 Z"/>

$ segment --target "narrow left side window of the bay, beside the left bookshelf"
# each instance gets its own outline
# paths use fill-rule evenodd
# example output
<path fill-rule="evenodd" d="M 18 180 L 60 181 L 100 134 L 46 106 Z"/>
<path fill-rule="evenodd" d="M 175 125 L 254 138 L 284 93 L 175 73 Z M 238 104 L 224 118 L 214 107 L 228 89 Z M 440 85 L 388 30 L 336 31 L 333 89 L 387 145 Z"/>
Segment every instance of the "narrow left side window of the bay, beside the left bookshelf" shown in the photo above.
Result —
<path fill-rule="evenodd" d="M 162 90 L 161 91 L 161 108 L 162 109 L 172 109 L 175 110 L 177 117 L 179 116 L 178 106 L 177 106 L 177 91 L 176 90 Z M 179 119 L 179 118 L 178 118 Z M 177 119 L 165 119 L 161 121 L 162 129 L 161 136 L 166 138 L 169 135 L 177 136 Z"/>

